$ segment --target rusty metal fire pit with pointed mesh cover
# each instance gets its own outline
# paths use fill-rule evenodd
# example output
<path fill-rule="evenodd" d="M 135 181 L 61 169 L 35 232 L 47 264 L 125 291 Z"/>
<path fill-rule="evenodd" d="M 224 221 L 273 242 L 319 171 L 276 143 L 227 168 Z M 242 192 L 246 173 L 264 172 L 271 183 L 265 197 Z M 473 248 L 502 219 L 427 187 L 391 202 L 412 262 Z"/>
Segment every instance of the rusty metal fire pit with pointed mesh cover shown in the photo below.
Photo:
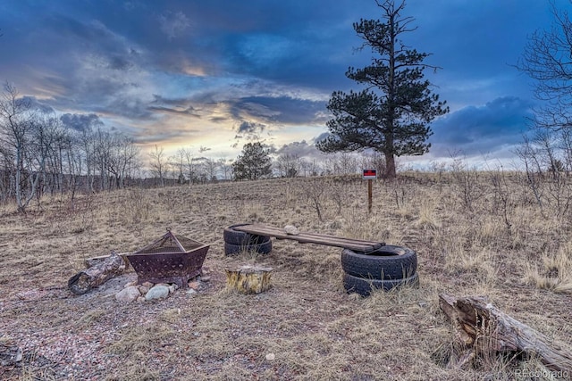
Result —
<path fill-rule="evenodd" d="M 153 244 L 126 256 L 137 272 L 139 284 L 176 283 L 185 288 L 189 279 L 201 274 L 209 247 L 185 236 L 175 236 L 167 229 Z"/>

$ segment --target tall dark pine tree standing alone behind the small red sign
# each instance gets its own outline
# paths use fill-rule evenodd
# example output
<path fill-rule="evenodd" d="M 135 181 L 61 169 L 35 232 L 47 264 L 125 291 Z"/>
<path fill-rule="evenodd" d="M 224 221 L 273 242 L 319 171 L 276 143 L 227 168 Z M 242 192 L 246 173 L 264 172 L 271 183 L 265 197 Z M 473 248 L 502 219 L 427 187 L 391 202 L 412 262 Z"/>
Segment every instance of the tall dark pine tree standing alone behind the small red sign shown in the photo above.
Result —
<path fill-rule="evenodd" d="M 346 72 L 366 89 L 332 94 L 327 106 L 333 114 L 327 122 L 330 136 L 317 147 L 328 153 L 372 148 L 385 156 L 385 177 L 394 178 L 395 157 L 427 153 L 431 146 L 427 139 L 433 134 L 429 125 L 449 108 L 424 79 L 426 68 L 437 69 L 423 63 L 430 54 L 400 40 L 403 33 L 416 30 L 409 27 L 413 18 L 400 15 L 405 1 L 397 6 L 394 0 L 376 3 L 383 10 L 383 22 L 362 19 L 353 25 L 364 39 L 361 48 L 370 47 L 376 56 L 370 66 Z"/>

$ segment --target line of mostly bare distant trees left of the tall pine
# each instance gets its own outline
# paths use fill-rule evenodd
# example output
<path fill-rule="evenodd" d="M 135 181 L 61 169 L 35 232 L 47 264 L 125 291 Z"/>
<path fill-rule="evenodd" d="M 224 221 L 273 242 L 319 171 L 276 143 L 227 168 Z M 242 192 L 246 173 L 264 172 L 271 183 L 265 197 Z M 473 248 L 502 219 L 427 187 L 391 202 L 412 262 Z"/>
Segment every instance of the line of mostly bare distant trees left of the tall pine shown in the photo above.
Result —
<path fill-rule="evenodd" d="M 66 115 L 43 110 L 6 83 L 0 95 L 0 202 L 15 202 L 25 212 L 44 195 L 93 194 L 128 186 L 204 184 L 219 180 L 294 178 L 357 173 L 367 155 L 341 153 L 308 161 L 295 153 L 273 160 L 261 143 L 245 145 L 234 161 L 214 160 L 181 148 L 141 153 L 135 141 L 102 123 L 73 126 Z M 370 160 L 372 159 L 372 160 Z M 373 161 L 379 162 L 377 158 Z M 370 166 L 370 164 L 367 164 Z"/>

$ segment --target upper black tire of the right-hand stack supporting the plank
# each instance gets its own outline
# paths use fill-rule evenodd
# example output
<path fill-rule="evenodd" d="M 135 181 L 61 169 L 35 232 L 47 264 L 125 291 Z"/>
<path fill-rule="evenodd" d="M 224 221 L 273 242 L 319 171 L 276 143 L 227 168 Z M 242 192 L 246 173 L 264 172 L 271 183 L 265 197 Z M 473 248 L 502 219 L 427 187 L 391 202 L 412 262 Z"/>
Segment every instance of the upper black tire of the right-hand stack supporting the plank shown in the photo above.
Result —
<path fill-rule="evenodd" d="M 417 273 L 417 254 L 407 247 L 392 244 L 367 254 L 343 249 L 341 268 L 354 277 L 403 279 Z"/>

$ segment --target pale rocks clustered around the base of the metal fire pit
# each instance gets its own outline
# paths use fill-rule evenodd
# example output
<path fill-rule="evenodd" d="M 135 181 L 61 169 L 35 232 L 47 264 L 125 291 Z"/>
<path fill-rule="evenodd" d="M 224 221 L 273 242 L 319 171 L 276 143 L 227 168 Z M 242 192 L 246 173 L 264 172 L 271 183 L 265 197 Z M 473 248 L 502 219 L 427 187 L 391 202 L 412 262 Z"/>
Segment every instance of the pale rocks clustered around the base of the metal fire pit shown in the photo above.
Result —
<path fill-rule="evenodd" d="M 196 294 L 201 288 L 202 282 L 207 282 L 208 277 L 196 277 L 189 281 L 188 294 Z M 124 286 L 122 291 L 115 294 L 117 302 L 148 302 L 156 299 L 164 299 L 173 294 L 179 286 L 168 283 L 145 282 L 138 285 L 137 281 L 129 282 Z"/>

